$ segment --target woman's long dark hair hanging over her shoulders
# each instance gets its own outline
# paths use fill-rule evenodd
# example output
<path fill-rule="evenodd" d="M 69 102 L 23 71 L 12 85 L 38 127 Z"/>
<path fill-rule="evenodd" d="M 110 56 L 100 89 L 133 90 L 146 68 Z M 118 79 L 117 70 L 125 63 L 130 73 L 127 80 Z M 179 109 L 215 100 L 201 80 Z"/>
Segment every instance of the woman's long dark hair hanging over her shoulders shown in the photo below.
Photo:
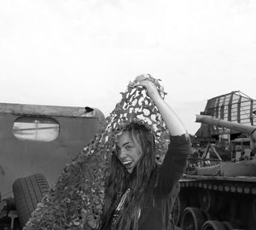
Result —
<path fill-rule="evenodd" d="M 144 193 L 146 193 L 150 177 L 156 166 L 154 135 L 150 130 L 143 124 L 131 123 L 123 131 L 128 131 L 131 140 L 142 150 L 142 156 L 130 175 L 116 154 L 113 153 L 102 213 L 102 230 L 110 229 L 113 212 L 119 204 L 120 195 L 128 187 L 131 192 L 125 200 L 123 210 L 119 213 L 114 229 L 137 229 L 139 213 L 145 202 Z M 148 197 L 152 198 L 152 194 Z"/>

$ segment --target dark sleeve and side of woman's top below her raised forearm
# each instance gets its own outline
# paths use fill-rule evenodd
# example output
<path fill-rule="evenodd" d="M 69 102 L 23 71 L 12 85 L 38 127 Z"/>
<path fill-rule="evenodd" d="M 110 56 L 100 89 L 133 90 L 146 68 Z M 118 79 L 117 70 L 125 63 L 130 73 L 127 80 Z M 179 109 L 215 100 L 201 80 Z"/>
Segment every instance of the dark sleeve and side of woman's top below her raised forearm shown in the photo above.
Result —
<path fill-rule="evenodd" d="M 170 141 L 164 162 L 150 181 L 148 191 L 154 189 L 154 198 L 142 208 L 138 230 L 172 229 L 168 221 L 169 214 L 179 191 L 178 180 L 186 169 L 187 158 L 192 151 L 186 135 L 171 136 Z"/>

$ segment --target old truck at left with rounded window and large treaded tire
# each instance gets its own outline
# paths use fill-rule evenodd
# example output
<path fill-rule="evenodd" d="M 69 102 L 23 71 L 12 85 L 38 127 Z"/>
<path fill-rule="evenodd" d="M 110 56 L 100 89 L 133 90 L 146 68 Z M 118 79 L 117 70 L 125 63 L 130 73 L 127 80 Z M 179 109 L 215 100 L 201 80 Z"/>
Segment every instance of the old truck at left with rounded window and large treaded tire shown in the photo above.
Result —
<path fill-rule="evenodd" d="M 97 108 L 0 103 L 0 229 L 21 229 L 105 122 Z"/>

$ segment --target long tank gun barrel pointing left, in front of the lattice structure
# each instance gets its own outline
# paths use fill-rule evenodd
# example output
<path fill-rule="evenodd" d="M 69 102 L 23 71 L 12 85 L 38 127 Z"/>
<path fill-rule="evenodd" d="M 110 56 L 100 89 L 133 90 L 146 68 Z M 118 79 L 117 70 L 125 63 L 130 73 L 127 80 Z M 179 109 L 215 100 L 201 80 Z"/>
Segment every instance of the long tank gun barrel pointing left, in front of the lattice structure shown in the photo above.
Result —
<path fill-rule="evenodd" d="M 235 122 L 225 121 L 223 119 L 213 118 L 212 116 L 208 116 L 208 115 L 196 115 L 195 122 L 233 129 L 249 135 L 252 135 L 256 129 L 256 126 L 253 126 L 253 125 L 239 124 Z"/>

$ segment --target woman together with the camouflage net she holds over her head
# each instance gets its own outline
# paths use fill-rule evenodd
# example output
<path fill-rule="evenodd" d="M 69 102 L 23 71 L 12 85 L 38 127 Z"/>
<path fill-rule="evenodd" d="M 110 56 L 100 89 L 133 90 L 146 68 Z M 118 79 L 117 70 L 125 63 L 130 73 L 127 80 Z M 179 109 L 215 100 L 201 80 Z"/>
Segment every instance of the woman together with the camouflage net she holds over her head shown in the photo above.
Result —
<path fill-rule="evenodd" d="M 64 168 L 26 230 L 172 229 L 172 200 L 191 148 L 164 96 L 150 75 L 129 83 L 107 124 Z"/>

